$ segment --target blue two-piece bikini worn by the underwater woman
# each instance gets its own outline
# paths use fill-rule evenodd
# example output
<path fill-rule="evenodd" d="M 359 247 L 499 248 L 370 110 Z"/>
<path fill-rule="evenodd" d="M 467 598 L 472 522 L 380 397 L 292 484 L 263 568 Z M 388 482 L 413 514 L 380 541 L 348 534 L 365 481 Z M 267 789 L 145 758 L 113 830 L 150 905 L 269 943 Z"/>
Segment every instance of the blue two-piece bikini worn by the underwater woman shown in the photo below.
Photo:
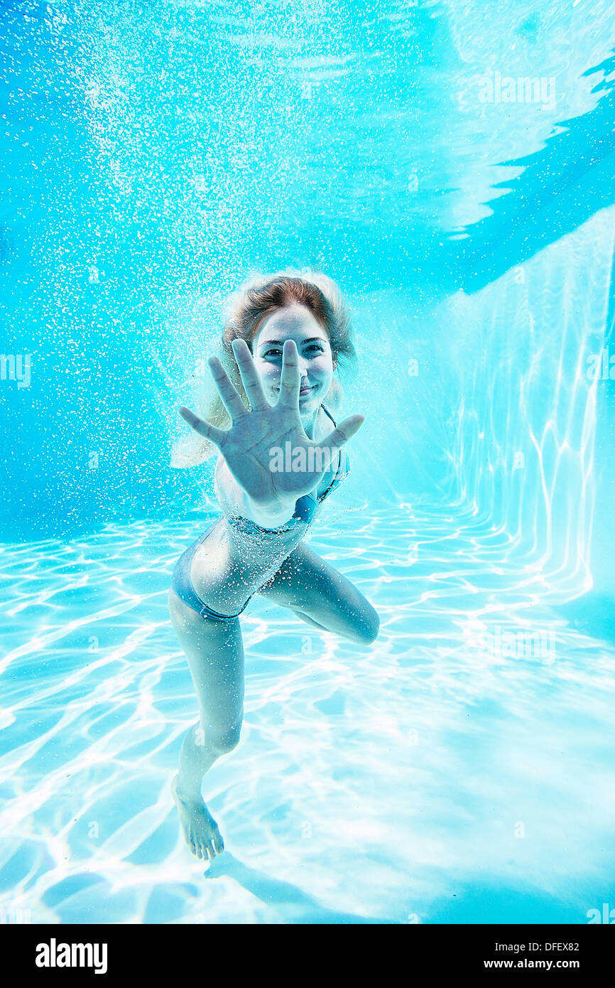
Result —
<path fill-rule="evenodd" d="M 321 405 L 321 408 L 323 409 L 325 414 L 329 416 L 334 426 L 337 426 L 337 422 L 334 419 L 333 415 L 331 415 L 331 413 L 327 411 L 324 405 Z M 340 462 L 338 464 L 338 469 L 336 471 L 335 477 L 329 484 L 329 487 L 327 488 L 325 493 L 321 494 L 320 497 L 316 497 L 313 492 L 310 492 L 309 494 L 304 494 L 302 497 L 298 498 L 298 500 L 295 502 L 294 514 L 292 518 L 289 519 L 289 521 L 285 524 L 284 527 L 280 527 L 277 529 L 263 529 L 261 528 L 260 525 L 257 525 L 255 522 L 251 521 L 250 519 L 241 518 L 241 517 L 228 518 L 227 519 L 228 524 L 242 533 L 249 533 L 251 535 L 263 535 L 266 537 L 268 535 L 275 535 L 276 533 L 290 532 L 290 530 L 293 529 L 296 525 L 305 525 L 307 528 L 307 526 L 314 519 L 314 516 L 316 515 L 316 510 L 319 504 L 321 503 L 321 501 L 324 501 L 325 498 L 329 497 L 331 492 L 334 491 L 336 487 L 340 486 L 344 478 L 350 472 L 350 463 L 346 450 L 344 450 L 342 447 L 340 447 L 339 449 L 340 449 Z M 342 469 L 342 464 L 345 461 L 346 461 L 345 469 Z M 216 518 L 211 523 L 211 525 L 209 525 L 205 529 L 205 531 L 200 536 L 200 538 L 197 538 L 196 541 L 193 542 L 192 545 L 188 549 L 186 549 L 185 552 L 182 553 L 182 555 L 180 556 L 180 558 L 178 559 L 175 565 L 175 569 L 173 570 L 171 586 L 173 587 L 174 591 L 176 592 L 180 600 L 183 601 L 185 604 L 187 604 L 189 608 L 192 608 L 192 611 L 195 611 L 196 614 L 200 615 L 201 617 L 210 617 L 212 620 L 234 620 L 235 617 L 239 617 L 239 615 L 246 610 L 248 604 L 252 599 L 253 596 L 252 594 L 244 604 L 239 614 L 221 615 L 218 614 L 217 611 L 212 611 L 211 608 L 207 607 L 206 604 L 203 604 L 203 602 L 197 596 L 192 586 L 192 580 L 191 580 L 191 564 L 192 564 L 192 558 L 194 552 L 196 551 L 199 545 L 202 545 L 207 535 L 209 535 L 211 530 L 218 524 L 218 521 L 219 519 Z"/>

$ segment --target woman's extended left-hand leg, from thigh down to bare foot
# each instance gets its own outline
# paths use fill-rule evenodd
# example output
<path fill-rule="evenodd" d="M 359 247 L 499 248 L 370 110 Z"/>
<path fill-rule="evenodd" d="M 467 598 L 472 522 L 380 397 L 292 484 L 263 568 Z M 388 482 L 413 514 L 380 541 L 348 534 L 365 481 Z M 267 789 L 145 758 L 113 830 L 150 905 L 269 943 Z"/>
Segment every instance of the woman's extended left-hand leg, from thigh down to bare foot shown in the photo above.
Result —
<path fill-rule="evenodd" d="M 244 703 L 244 647 L 239 618 L 200 617 L 169 592 L 169 613 L 186 652 L 199 720 L 182 745 L 173 794 L 192 854 L 207 860 L 224 851 L 218 825 L 200 794 L 204 774 L 239 742 Z"/>

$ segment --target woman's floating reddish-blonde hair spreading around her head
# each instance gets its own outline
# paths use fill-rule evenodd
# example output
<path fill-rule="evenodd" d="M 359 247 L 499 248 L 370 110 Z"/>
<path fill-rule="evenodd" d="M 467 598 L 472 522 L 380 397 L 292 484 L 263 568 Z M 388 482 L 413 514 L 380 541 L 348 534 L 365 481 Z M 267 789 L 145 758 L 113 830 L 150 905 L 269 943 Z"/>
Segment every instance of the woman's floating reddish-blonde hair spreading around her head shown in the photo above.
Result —
<path fill-rule="evenodd" d="M 253 352 L 259 332 L 273 312 L 289 305 L 305 306 L 318 324 L 327 332 L 335 370 L 355 369 L 356 351 L 346 301 L 340 288 L 321 272 L 286 269 L 277 275 L 259 275 L 249 279 L 227 299 L 224 328 L 218 338 L 216 356 L 237 388 L 247 408 L 250 408 L 231 343 L 245 340 Z M 204 421 L 219 429 L 230 427 L 230 418 L 213 381 L 208 381 L 207 393 L 201 396 L 195 409 Z M 193 466 L 217 454 L 208 440 L 196 434 L 180 440 L 171 453 L 172 466 Z"/>

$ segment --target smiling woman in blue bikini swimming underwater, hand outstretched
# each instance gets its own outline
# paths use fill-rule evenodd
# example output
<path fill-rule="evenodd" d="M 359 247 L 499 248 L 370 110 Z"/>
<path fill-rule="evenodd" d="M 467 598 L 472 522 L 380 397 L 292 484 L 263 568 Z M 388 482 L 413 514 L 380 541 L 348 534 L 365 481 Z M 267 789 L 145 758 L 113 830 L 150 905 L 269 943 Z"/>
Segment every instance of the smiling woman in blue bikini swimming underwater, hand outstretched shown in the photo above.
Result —
<path fill-rule="evenodd" d="M 214 490 L 222 517 L 180 557 L 169 592 L 199 709 L 172 791 L 192 854 L 203 860 L 224 851 L 200 786 L 239 742 L 239 615 L 250 598 L 261 594 L 360 644 L 374 641 L 379 628 L 371 604 L 304 542 L 318 505 L 348 472 L 344 445 L 364 421 L 355 414 L 336 424 L 342 388 L 334 374 L 341 356 L 355 356 L 339 288 L 322 274 L 285 272 L 248 283 L 233 301 L 222 360 L 208 362 L 219 397 L 207 421 L 180 409 L 201 437 L 192 462 L 219 453 Z M 291 452 L 291 466 L 280 451 Z"/>

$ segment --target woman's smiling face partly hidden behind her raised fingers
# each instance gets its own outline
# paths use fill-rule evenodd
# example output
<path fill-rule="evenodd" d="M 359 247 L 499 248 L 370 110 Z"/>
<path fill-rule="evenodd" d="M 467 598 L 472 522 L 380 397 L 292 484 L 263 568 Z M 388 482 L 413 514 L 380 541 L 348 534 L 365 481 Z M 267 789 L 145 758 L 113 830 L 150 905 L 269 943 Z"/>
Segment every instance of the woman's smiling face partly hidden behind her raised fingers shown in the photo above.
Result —
<path fill-rule="evenodd" d="M 297 346 L 301 374 L 299 414 L 309 416 L 324 400 L 336 369 L 329 334 L 309 309 L 297 302 L 277 309 L 265 320 L 253 341 L 252 353 L 272 405 L 279 393 L 285 340 L 294 340 Z"/>

